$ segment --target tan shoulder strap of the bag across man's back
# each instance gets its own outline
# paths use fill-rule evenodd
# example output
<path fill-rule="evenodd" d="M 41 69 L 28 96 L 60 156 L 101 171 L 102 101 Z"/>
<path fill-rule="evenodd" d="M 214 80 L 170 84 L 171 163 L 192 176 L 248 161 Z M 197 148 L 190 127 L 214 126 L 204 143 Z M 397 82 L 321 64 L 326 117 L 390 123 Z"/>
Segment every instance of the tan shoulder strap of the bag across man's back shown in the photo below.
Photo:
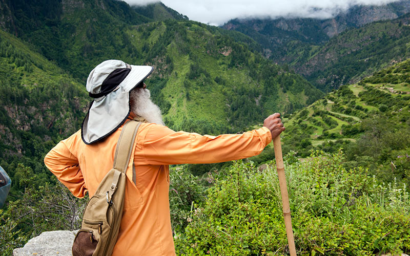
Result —
<path fill-rule="evenodd" d="M 134 145 L 139 125 L 141 125 L 141 122 L 134 120 L 128 121 L 124 125 L 124 128 L 122 128 L 121 134 L 119 135 L 117 148 L 115 149 L 113 168 L 119 170 L 120 172 L 114 173 L 110 191 L 107 191 L 107 202 L 109 203 L 111 202 L 112 195 L 117 189 L 120 174 L 125 174 L 127 172 L 128 163 L 130 162 L 132 153 L 132 147 Z"/>

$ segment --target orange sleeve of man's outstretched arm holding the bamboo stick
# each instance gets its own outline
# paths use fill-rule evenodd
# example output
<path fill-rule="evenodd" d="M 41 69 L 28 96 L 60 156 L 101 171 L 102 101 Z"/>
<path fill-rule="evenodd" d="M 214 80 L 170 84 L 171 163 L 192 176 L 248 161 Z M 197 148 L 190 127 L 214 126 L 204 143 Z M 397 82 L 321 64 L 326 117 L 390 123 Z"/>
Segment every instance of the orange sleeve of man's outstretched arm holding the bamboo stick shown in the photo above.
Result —
<path fill-rule="evenodd" d="M 243 134 L 202 136 L 151 125 L 142 152 L 148 164 L 218 163 L 258 155 L 271 141 L 266 127 Z"/>

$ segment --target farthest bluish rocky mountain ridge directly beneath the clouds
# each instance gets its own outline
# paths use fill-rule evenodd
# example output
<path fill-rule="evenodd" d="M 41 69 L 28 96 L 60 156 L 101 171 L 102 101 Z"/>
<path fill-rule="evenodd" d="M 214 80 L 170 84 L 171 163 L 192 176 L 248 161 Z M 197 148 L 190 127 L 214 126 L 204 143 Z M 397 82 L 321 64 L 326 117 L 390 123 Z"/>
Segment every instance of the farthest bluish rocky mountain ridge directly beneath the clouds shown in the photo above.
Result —
<path fill-rule="evenodd" d="M 359 28 L 379 20 L 396 19 L 408 12 L 410 12 L 410 1 L 402 0 L 383 6 L 356 5 L 328 19 L 286 17 L 276 19 L 236 18 L 228 21 L 221 27 L 229 30 L 236 29 L 254 39 L 260 39 L 257 41 L 262 46 L 273 51 L 274 49 L 278 50 L 278 47 L 275 47 L 275 41 L 279 47 L 284 47 L 285 44 L 292 40 L 320 44 L 348 28 Z M 258 36 L 255 36 L 255 34 L 252 36 L 252 30 Z M 286 37 L 290 38 L 286 39 Z M 275 48 L 269 47 L 269 41 Z M 280 62 L 280 57 L 275 57 L 273 60 Z"/>

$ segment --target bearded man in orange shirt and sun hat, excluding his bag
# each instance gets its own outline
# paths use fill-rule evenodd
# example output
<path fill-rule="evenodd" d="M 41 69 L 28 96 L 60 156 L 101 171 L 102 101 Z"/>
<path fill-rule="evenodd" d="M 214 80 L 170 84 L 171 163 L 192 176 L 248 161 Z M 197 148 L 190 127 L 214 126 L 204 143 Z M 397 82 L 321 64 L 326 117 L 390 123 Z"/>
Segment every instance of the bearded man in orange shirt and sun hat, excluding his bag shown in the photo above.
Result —
<path fill-rule="evenodd" d="M 60 141 L 45 157 L 51 172 L 74 196 L 92 197 L 111 169 L 127 119 L 139 126 L 127 170 L 124 213 L 113 256 L 175 255 L 169 209 L 169 164 L 215 163 L 258 155 L 284 131 L 279 114 L 258 130 L 239 135 L 201 136 L 163 125 L 143 82 L 149 66 L 107 60 L 91 71 L 87 90 L 95 100 L 81 130 Z"/>

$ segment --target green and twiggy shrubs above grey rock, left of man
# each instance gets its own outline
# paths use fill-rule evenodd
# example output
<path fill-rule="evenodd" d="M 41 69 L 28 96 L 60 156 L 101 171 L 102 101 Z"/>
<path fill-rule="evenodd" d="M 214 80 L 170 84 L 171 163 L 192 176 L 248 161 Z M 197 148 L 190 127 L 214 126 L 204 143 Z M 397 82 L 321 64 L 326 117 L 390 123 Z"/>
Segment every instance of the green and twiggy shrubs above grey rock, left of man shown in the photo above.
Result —
<path fill-rule="evenodd" d="M 87 199 L 76 199 L 55 177 L 51 182 L 36 180 L 30 167 L 18 164 L 13 182 L 22 188 L 9 200 L 4 212 L 0 210 L 0 255 L 12 255 L 12 249 L 22 247 L 28 239 L 50 230 L 75 230 L 81 226 L 81 217 Z"/>

